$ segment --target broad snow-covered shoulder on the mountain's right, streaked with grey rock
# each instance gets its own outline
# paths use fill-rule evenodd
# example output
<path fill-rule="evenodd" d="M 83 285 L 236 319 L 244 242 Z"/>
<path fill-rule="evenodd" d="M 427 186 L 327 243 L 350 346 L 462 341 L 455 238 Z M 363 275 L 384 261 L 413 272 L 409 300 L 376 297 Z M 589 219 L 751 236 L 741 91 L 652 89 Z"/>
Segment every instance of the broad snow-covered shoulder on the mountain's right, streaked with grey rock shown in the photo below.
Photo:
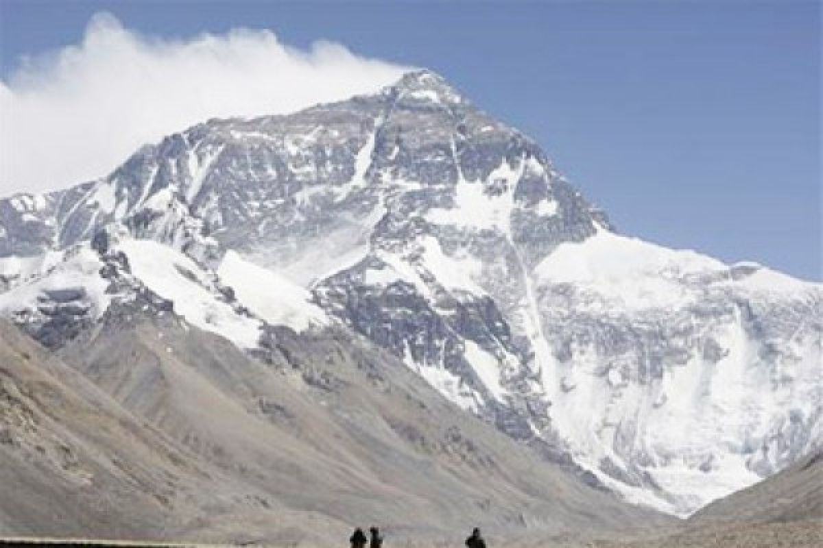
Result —
<path fill-rule="evenodd" d="M 535 276 L 563 350 L 543 376 L 552 417 L 590 466 L 653 482 L 686 512 L 821 443 L 819 286 L 606 232 L 559 246 Z"/>

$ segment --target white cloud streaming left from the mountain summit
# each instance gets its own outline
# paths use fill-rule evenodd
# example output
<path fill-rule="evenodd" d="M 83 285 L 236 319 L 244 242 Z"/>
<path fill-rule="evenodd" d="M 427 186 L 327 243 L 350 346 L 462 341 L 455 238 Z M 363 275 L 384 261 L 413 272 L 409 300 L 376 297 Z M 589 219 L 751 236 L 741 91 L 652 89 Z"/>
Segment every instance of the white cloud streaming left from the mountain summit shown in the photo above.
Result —
<path fill-rule="evenodd" d="M 140 145 L 211 117 L 289 113 L 406 70 L 329 42 L 301 51 L 267 30 L 148 37 L 98 13 L 81 44 L 0 83 L 0 196 L 104 176 Z"/>

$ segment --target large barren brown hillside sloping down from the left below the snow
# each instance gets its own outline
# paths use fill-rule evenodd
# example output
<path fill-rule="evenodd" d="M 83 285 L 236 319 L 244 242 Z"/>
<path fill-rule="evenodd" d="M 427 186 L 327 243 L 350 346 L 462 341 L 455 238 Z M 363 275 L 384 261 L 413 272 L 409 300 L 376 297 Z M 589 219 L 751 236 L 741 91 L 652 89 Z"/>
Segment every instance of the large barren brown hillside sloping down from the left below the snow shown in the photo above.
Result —
<path fill-rule="evenodd" d="M 0 536 L 299 542 L 670 523 L 468 416 L 384 352 L 278 334 L 266 362 L 150 296 L 63 360 L 0 323 Z M 365 520 L 365 521 L 364 521 Z"/>

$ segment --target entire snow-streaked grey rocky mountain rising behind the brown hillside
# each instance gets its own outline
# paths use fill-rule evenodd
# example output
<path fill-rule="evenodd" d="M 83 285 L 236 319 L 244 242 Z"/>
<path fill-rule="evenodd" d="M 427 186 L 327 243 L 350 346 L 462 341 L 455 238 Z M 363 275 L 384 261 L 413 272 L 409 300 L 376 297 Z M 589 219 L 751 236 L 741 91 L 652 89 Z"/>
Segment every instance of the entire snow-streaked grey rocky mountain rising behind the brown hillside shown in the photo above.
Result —
<path fill-rule="evenodd" d="M 258 359 L 277 325 L 350 329 L 670 513 L 821 443 L 820 284 L 613 232 L 532 140 L 428 71 L 0 200 L 0 256 L 0 312 L 52 348 L 140 292 Z"/>

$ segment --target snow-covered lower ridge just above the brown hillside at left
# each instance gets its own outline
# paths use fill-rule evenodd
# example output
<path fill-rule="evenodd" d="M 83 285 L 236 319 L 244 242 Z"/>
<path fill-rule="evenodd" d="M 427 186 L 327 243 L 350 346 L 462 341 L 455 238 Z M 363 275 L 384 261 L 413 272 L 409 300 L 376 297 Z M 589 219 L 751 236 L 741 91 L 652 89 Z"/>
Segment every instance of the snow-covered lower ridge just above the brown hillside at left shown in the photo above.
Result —
<path fill-rule="evenodd" d="M 119 265 L 106 257 L 116 257 Z M 35 334 L 56 331 L 49 340 L 63 337 L 59 332 L 67 321 L 93 324 L 114 299 L 135 301 L 142 288 L 169 302 L 168 310 L 189 324 L 246 350 L 258 348 L 264 323 L 300 332 L 330 322 L 309 302 L 305 289 L 232 252 L 217 274 L 165 244 L 121 236 L 105 256 L 86 244 L 62 253 L 50 251 L 36 260 L 6 259 L 2 267 L 5 272 L 16 268 L 20 279 L 0 293 L 0 315 L 29 326 Z M 114 274 L 112 269 L 123 272 Z M 23 271 L 25 277 L 19 274 Z M 116 280 L 123 276 L 125 285 Z M 165 310 L 161 307 L 160 313 Z"/>

